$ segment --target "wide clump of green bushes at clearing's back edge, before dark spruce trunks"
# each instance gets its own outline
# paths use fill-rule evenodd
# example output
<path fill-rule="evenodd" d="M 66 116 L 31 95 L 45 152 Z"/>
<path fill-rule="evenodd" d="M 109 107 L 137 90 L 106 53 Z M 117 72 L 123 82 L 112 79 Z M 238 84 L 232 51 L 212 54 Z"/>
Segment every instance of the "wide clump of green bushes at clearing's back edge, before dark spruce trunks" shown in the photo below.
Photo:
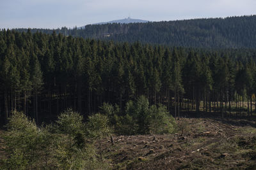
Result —
<path fill-rule="evenodd" d="M 138 97 L 136 101 L 128 101 L 123 112 L 106 103 L 101 110 L 108 116 L 117 134 L 168 134 L 175 131 L 175 120 L 166 107 L 162 104 L 149 106 L 145 96 Z"/>

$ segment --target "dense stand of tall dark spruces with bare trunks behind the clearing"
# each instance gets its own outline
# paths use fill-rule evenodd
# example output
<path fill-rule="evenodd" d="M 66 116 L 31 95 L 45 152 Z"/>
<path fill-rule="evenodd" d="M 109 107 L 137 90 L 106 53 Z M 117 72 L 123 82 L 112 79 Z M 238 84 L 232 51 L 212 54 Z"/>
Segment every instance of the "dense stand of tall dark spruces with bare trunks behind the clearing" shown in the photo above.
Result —
<path fill-rule="evenodd" d="M 63 34 L 0 32 L 1 120 L 14 110 L 51 120 L 72 108 L 88 117 L 104 103 L 145 96 L 180 111 L 252 115 L 255 50 L 114 43 Z M 247 107 L 244 107 L 247 102 Z M 4 123 L 4 122 L 3 122 Z"/>

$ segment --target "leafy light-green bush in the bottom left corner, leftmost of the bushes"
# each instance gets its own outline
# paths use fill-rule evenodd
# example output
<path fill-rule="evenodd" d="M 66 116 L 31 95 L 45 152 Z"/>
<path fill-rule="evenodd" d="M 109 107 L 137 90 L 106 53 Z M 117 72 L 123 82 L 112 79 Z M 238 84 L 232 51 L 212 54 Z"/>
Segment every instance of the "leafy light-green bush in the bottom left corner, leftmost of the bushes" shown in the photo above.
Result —
<path fill-rule="evenodd" d="M 35 121 L 29 120 L 21 112 L 13 111 L 7 124 L 8 131 L 4 135 L 6 152 L 10 157 L 6 160 L 6 167 L 33 167 L 36 164 L 36 143 L 38 141 L 38 128 Z"/>

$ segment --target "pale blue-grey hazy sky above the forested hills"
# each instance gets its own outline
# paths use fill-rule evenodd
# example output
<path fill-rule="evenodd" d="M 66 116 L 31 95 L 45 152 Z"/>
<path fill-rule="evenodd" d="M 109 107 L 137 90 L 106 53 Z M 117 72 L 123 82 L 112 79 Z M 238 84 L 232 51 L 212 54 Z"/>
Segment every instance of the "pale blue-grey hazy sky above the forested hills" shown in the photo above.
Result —
<path fill-rule="evenodd" d="M 127 17 L 169 21 L 255 14 L 255 0 L 0 0 L 0 29 L 73 28 Z"/>

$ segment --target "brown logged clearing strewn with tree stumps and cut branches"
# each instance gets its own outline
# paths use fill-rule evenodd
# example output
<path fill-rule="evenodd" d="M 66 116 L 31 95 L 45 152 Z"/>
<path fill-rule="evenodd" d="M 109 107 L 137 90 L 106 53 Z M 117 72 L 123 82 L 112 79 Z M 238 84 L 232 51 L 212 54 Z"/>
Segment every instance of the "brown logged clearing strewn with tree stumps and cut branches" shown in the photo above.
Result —
<path fill-rule="evenodd" d="M 113 169 L 256 169 L 255 120 L 180 118 L 176 134 L 113 136 L 99 152 Z"/>

